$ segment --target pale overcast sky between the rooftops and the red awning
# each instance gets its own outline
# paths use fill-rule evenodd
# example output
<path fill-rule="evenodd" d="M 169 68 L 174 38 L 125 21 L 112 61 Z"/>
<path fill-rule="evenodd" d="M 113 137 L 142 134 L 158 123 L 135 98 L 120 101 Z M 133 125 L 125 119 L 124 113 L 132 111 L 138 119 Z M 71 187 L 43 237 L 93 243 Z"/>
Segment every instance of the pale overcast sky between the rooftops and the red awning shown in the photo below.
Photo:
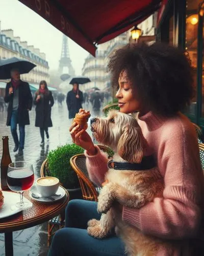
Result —
<path fill-rule="evenodd" d="M 37 13 L 17 0 L 0 0 L 1 30 L 13 29 L 14 36 L 46 54 L 49 68 L 58 69 L 62 49 L 62 33 Z M 68 39 L 69 54 L 76 75 L 81 75 L 88 52 Z"/>

